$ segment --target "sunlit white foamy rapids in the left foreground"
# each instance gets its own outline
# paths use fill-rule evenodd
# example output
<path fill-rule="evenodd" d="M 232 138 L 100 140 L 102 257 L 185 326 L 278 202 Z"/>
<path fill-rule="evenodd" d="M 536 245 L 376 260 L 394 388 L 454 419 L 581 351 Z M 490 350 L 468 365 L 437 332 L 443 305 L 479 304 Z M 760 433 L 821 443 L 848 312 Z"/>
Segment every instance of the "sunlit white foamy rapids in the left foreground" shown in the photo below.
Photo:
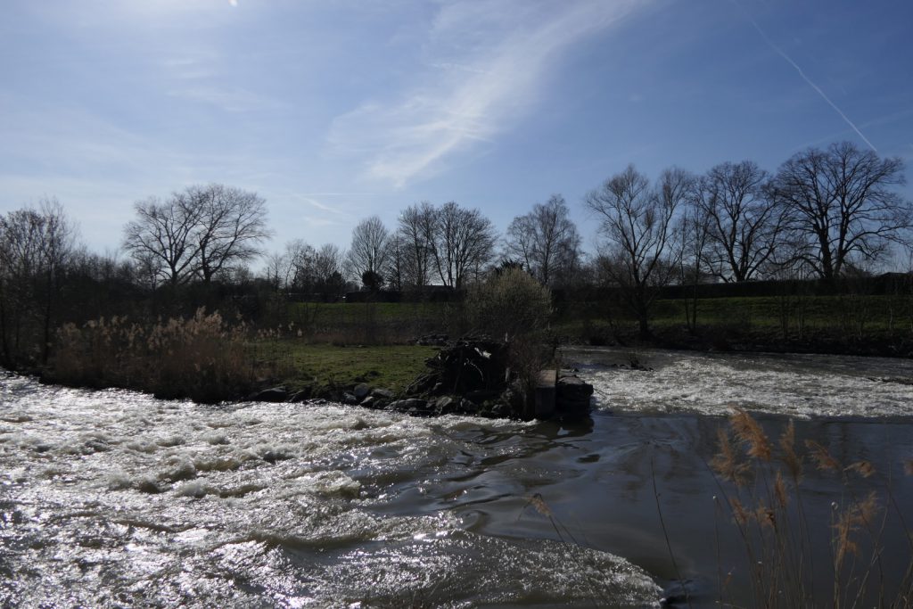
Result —
<path fill-rule="evenodd" d="M 467 452 L 509 457 L 524 428 L 6 374 L 0 605 L 654 604 L 645 572 L 547 539 L 545 519 L 540 538 L 498 537 L 440 509 L 448 498 L 396 501 L 457 477 Z"/>

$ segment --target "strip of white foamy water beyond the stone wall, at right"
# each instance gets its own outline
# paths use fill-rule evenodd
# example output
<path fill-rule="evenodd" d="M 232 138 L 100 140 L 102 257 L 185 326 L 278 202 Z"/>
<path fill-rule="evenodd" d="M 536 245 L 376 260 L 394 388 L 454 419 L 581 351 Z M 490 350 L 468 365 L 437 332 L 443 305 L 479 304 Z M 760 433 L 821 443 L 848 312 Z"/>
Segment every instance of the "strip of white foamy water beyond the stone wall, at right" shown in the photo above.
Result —
<path fill-rule="evenodd" d="M 726 415 L 913 415 L 913 362 L 827 355 L 638 352 L 653 370 L 624 367 L 623 349 L 574 348 L 566 365 L 595 388 L 601 410 Z"/>

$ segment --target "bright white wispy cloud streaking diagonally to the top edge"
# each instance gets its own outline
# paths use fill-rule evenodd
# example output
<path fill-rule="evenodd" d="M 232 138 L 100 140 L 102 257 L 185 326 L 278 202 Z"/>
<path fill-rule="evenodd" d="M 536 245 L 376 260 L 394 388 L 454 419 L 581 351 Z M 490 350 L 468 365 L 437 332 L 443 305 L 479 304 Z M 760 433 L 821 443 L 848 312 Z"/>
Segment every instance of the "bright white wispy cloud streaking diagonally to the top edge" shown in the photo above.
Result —
<path fill-rule="evenodd" d="M 490 142 L 527 114 L 561 52 L 646 3 L 466 2 L 429 28 L 425 69 L 393 100 L 333 121 L 333 150 L 362 157 L 364 173 L 402 187 L 457 152 Z"/>

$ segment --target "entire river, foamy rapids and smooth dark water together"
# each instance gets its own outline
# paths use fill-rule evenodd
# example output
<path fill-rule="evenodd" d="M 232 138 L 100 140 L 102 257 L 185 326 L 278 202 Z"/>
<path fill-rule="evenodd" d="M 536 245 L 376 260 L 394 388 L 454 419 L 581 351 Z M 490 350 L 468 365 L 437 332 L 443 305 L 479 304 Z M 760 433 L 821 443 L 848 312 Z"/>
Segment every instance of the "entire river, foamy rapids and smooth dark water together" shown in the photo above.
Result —
<path fill-rule="evenodd" d="M 880 576 L 903 574 L 910 362 L 646 352 L 653 371 L 614 365 L 628 355 L 564 353 L 597 399 L 591 421 L 563 427 L 206 406 L 6 374 L 0 605 L 651 606 L 684 589 L 710 606 L 719 572 L 750 602 L 707 466 L 733 405 L 872 461 L 866 484 L 897 505 Z M 803 485 L 826 551 L 845 488 L 811 467 Z"/>

